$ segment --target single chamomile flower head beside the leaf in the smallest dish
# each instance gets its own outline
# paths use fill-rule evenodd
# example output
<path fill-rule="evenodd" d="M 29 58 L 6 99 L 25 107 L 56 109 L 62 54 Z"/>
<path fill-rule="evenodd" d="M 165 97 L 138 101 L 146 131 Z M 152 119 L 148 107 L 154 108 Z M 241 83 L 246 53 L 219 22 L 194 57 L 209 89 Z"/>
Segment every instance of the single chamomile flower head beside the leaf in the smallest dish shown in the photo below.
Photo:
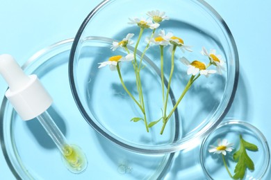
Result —
<path fill-rule="evenodd" d="M 210 149 L 208 152 L 213 152 L 214 154 L 223 154 L 224 156 L 227 152 L 231 152 L 233 150 L 233 143 L 229 143 L 227 139 L 218 139 L 218 146 L 210 145 Z"/>

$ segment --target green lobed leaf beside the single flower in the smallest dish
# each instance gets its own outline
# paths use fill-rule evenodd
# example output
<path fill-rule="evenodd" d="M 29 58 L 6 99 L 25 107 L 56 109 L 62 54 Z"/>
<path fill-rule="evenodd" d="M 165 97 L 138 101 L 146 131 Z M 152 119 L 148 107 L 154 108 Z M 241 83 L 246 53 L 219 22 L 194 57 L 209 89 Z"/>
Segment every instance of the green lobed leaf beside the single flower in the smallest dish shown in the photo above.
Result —
<path fill-rule="evenodd" d="M 252 159 L 249 158 L 246 150 L 257 151 L 258 147 L 252 143 L 248 143 L 240 135 L 240 148 L 233 154 L 233 160 L 238 161 L 234 169 L 235 174 L 233 179 L 243 179 L 247 168 L 254 170 L 254 163 Z"/>

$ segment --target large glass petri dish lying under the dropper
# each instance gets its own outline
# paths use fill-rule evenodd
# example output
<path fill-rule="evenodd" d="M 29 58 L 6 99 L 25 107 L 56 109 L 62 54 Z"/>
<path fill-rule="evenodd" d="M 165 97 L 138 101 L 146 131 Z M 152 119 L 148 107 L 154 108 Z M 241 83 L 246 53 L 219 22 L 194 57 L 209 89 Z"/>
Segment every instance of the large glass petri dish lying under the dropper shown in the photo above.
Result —
<path fill-rule="evenodd" d="M 62 155 L 38 120 L 24 121 L 8 100 L 1 101 L 0 140 L 16 179 L 161 179 L 172 154 L 147 155 L 124 150 L 95 132 L 76 107 L 69 88 L 68 59 L 74 39 L 35 53 L 23 68 L 36 74 L 54 99 L 48 109 L 67 141 L 79 145 L 88 159 L 80 174 L 67 170 Z"/>

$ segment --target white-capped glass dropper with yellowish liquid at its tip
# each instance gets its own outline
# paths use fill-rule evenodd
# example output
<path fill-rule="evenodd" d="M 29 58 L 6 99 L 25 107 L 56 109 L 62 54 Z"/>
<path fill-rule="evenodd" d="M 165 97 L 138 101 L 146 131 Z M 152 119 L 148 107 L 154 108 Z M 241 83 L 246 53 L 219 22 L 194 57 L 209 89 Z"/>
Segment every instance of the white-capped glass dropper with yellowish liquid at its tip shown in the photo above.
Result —
<path fill-rule="evenodd" d="M 38 80 L 37 75 L 26 75 L 11 55 L 0 55 L 0 74 L 8 83 L 6 98 L 23 120 L 38 118 L 47 134 L 52 138 L 65 160 L 68 170 L 79 173 L 88 162 L 80 147 L 70 145 L 54 123 L 47 109 L 53 100 Z"/>

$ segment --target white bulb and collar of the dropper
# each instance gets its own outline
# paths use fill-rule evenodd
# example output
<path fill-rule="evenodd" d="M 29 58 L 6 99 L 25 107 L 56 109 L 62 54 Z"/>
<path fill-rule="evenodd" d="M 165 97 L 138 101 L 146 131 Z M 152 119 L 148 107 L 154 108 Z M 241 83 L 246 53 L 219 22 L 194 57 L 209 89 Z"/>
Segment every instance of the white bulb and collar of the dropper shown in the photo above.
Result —
<path fill-rule="evenodd" d="M 37 75 L 26 75 L 13 56 L 0 55 L 0 74 L 8 83 L 6 97 L 23 120 L 46 111 L 53 102 Z"/>

